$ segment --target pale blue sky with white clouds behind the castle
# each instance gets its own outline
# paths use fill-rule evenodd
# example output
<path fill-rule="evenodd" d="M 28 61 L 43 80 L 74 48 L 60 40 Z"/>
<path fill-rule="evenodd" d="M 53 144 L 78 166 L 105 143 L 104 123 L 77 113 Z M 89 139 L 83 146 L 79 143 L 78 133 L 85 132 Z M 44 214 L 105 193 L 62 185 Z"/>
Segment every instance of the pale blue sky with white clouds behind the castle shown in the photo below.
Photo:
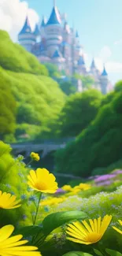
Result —
<path fill-rule="evenodd" d="M 109 80 L 122 80 L 122 0 L 55 0 L 68 24 L 78 30 L 87 68 L 94 57 L 100 71 L 105 63 Z M 0 0 L 0 29 L 14 42 L 28 17 L 31 27 L 49 18 L 54 0 Z"/>

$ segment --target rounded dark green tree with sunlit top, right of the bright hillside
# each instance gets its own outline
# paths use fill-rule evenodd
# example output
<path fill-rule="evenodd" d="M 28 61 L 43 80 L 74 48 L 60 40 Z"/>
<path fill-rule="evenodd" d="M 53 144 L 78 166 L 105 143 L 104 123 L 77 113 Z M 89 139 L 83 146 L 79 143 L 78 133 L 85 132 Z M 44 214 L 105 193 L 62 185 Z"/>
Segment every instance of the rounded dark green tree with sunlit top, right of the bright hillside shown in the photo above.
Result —
<path fill-rule="evenodd" d="M 94 89 L 71 95 L 59 118 L 61 135 L 79 135 L 97 115 L 101 100 L 102 94 Z"/>

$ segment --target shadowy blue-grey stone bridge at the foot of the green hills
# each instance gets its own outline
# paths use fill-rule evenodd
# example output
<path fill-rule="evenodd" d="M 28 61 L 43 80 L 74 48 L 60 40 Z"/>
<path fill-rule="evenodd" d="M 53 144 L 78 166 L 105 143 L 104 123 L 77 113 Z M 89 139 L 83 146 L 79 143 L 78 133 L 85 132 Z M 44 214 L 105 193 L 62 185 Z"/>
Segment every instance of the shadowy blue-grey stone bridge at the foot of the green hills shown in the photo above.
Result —
<path fill-rule="evenodd" d="M 42 141 L 31 141 L 24 143 L 12 143 L 10 146 L 13 148 L 13 154 L 23 154 L 24 157 L 28 157 L 31 152 L 42 152 L 41 158 L 46 157 L 50 152 L 65 148 L 66 144 L 72 139 L 54 139 L 52 140 L 42 140 Z"/>

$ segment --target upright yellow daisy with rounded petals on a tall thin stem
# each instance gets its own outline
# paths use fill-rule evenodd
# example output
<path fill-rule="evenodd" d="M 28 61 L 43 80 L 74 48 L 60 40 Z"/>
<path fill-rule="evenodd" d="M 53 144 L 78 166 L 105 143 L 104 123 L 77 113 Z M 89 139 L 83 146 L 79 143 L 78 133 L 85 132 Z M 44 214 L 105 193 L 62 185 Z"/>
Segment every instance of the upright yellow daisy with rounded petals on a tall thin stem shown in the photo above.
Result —
<path fill-rule="evenodd" d="M 36 191 L 54 194 L 57 191 L 57 182 L 54 174 L 46 169 L 31 170 L 28 175 L 28 185 Z"/>

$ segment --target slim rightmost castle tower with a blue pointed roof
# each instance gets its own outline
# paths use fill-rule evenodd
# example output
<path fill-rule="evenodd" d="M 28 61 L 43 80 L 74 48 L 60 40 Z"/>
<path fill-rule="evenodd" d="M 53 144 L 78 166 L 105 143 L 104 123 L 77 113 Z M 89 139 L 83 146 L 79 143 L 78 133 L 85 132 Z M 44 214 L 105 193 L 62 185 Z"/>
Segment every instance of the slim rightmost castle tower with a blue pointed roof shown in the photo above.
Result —
<path fill-rule="evenodd" d="M 102 72 L 102 75 L 100 76 L 100 84 L 101 84 L 101 91 L 103 95 L 106 95 L 107 93 L 107 87 L 108 87 L 108 74 L 105 70 L 105 66 Z"/>

